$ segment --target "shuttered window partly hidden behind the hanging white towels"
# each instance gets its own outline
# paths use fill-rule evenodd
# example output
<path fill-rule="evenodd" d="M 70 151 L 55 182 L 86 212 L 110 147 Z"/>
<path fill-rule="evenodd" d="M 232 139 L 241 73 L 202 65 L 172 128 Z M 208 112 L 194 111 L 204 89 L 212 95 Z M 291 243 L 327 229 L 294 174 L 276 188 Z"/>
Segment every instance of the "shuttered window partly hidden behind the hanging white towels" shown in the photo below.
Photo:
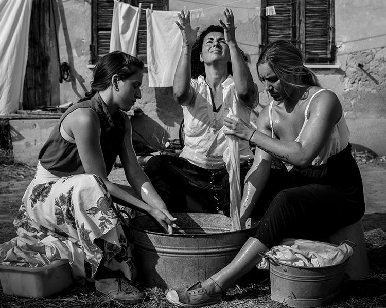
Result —
<path fill-rule="evenodd" d="M 168 0 L 121 0 L 138 7 L 141 3 L 143 9 L 167 11 L 169 9 Z M 111 23 L 113 19 L 114 0 L 93 0 L 91 2 L 91 63 L 94 64 L 98 58 L 109 53 Z M 137 38 L 137 57 L 146 62 L 146 14 L 141 12 Z"/>

